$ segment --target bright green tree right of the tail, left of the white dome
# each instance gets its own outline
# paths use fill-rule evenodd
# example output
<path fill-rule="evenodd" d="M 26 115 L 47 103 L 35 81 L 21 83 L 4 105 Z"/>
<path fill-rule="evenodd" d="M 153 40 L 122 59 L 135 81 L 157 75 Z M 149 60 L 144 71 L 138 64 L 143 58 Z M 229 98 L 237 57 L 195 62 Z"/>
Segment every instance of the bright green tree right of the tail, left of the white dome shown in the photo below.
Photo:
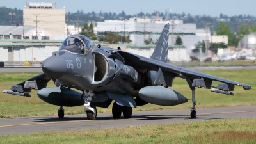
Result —
<path fill-rule="evenodd" d="M 228 45 L 235 45 L 234 44 L 234 33 L 232 33 L 231 29 L 229 28 L 228 24 L 221 22 L 218 28 L 216 29 L 216 35 L 227 35 L 228 36 Z"/>

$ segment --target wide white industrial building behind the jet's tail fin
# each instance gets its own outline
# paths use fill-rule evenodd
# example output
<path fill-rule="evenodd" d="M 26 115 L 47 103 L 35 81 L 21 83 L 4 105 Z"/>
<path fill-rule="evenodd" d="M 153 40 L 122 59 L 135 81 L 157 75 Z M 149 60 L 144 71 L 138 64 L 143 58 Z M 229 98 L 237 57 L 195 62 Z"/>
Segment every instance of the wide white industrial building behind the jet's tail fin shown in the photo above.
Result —
<path fill-rule="evenodd" d="M 129 35 L 132 44 L 143 45 L 144 41 L 152 38 L 154 42 L 159 38 L 165 24 L 170 24 L 169 45 L 174 45 L 176 37 L 182 38 L 183 45 L 187 47 L 188 53 L 195 49 L 194 45 L 200 40 L 196 35 L 195 24 L 184 24 L 182 20 L 162 21 L 149 18 L 131 18 L 129 20 L 105 20 L 97 22 L 97 34 L 104 35 L 112 31 L 122 35 Z"/>

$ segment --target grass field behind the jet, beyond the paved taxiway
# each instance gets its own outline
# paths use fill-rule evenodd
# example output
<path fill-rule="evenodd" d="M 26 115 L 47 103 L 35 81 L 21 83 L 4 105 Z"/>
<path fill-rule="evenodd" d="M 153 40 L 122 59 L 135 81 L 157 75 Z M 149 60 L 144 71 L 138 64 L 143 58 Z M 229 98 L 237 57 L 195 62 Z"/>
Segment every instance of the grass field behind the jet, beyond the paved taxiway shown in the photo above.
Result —
<path fill-rule="evenodd" d="M 196 108 L 209 108 L 220 106 L 248 106 L 256 104 L 256 90 L 255 90 L 255 75 L 254 69 L 251 70 L 211 70 L 202 71 L 214 76 L 232 79 L 241 83 L 250 84 L 253 86 L 252 90 L 243 90 L 242 87 L 236 86 L 234 96 L 222 95 L 220 93 L 213 93 L 209 89 L 196 89 Z M 3 90 L 9 90 L 13 84 L 20 83 L 35 76 L 39 73 L 0 73 L 0 117 L 17 117 L 17 116 L 43 116 L 43 115 L 57 115 L 59 106 L 53 106 L 40 100 L 36 92 L 32 90 L 31 97 L 20 97 L 17 95 L 8 95 L 3 93 Z M 218 83 L 214 83 L 216 86 Z M 49 83 L 48 86 L 54 86 L 54 83 Z M 191 90 L 189 89 L 186 80 L 175 78 L 173 81 L 173 90 L 181 93 L 188 99 L 191 99 Z M 148 111 L 154 109 L 189 109 L 191 108 L 191 101 L 186 104 L 178 106 L 157 106 L 154 104 L 147 104 L 145 106 L 138 106 L 133 108 L 133 111 Z M 98 113 L 111 112 L 112 105 L 109 108 L 97 108 Z M 72 108 L 65 108 L 65 114 L 84 113 L 83 106 Z"/>

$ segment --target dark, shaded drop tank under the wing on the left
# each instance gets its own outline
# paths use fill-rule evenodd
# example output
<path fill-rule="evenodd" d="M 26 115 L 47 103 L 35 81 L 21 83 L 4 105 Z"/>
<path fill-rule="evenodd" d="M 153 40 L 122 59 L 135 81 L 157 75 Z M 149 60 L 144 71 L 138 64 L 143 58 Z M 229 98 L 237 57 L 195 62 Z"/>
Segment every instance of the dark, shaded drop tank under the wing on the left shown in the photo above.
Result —
<path fill-rule="evenodd" d="M 45 102 L 57 106 L 81 106 L 84 104 L 84 100 L 81 99 L 82 93 L 67 88 L 43 88 L 37 92 L 37 95 Z"/>

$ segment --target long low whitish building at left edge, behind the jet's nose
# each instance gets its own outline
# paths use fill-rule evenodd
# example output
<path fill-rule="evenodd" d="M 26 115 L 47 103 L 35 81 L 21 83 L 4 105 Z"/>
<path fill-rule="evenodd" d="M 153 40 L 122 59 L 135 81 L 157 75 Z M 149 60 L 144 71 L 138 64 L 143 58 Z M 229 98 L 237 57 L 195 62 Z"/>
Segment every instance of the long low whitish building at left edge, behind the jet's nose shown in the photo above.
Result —
<path fill-rule="evenodd" d="M 44 61 L 59 51 L 62 40 L 0 40 L 0 61 Z"/>

